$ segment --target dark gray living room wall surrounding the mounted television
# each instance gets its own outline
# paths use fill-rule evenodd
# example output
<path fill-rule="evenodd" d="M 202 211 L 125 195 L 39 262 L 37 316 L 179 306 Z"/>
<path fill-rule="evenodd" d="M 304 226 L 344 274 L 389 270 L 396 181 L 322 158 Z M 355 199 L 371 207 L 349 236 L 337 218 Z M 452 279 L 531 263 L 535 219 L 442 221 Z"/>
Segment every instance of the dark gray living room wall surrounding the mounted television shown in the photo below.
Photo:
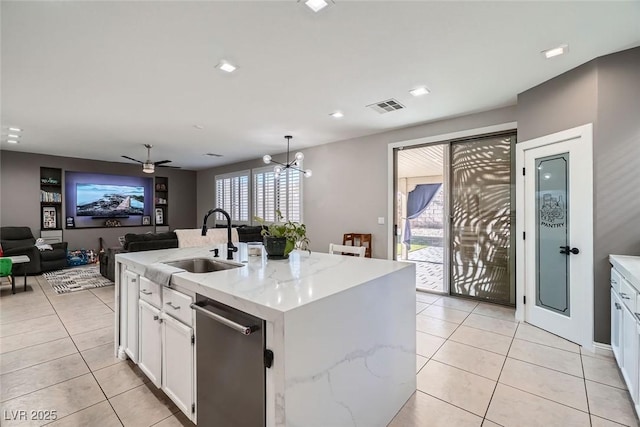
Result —
<path fill-rule="evenodd" d="M 138 165 L 96 160 L 0 151 L 0 226 L 27 226 L 40 236 L 40 167 L 64 171 L 113 175 L 153 175 L 142 172 Z M 196 226 L 196 172 L 158 168 L 155 175 L 169 178 L 169 225 L 171 229 Z M 64 203 L 63 203 L 64 221 Z M 146 233 L 154 227 L 114 227 L 64 229 L 63 238 L 69 249 L 98 249 L 99 238 L 107 247 L 119 246 L 118 237 L 126 233 Z"/>

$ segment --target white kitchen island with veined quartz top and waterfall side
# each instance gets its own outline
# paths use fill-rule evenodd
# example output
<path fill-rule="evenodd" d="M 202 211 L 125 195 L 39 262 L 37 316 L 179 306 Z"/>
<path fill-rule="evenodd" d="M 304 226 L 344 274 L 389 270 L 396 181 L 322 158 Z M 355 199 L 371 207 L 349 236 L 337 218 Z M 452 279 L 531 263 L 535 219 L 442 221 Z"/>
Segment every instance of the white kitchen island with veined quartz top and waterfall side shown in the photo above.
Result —
<path fill-rule="evenodd" d="M 171 362 L 168 350 L 180 345 L 149 339 L 156 326 L 149 327 L 144 319 L 160 319 L 161 323 L 166 319 L 163 328 L 179 323 L 174 330 L 192 334 L 191 342 L 197 348 L 209 337 L 198 334 L 193 310 L 185 313 L 189 304 L 180 301 L 195 302 L 202 297 L 264 321 L 265 350 L 272 352 L 273 358 L 267 363 L 265 356 L 263 425 L 384 426 L 415 392 L 412 264 L 299 251 L 288 260 L 274 261 L 249 257 L 246 245 L 240 244 L 233 261 L 241 267 L 211 273 L 180 272 L 162 288 L 144 278 L 145 269 L 152 264 L 212 258 L 210 249 L 116 256 L 116 352 L 138 363 L 195 423 L 197 393 L 205 386 L 203 367 L 198 369 L 195 357 L 189 369 Z M 226 246 L 221 245 L 219 252 L 226 254 Z M 227 262 L 223 258 L 215 259 Z M 155 308 L 147 304 L 154 301 Z M 182 318 L 178 320 L 182 322 L 175 322 L 175 307 L 180 307 Z M 163 332 L 161 336 L 179 335 Z M 163 355 L 162 360 L 155 360 L 155 353 L 145 350 L 149 342 L 162 348 L 157 352 Z M 188 361 L 195 350 L 180 354 L 184 356 L 181 360 Z M 180 377 L 192 372 L 191 378 L 176 384 L 171 379 L 177 378 L 176 371 Z"/>

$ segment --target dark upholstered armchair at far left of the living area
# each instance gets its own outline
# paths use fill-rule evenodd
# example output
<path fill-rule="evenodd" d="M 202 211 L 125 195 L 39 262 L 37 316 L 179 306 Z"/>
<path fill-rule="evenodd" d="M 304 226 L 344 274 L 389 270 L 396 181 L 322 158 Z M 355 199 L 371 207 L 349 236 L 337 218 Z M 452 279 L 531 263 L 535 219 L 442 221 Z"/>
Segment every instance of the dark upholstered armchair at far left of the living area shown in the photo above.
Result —
<path fill-rule="evenodd" d="M 52 251 L 40 252 L 36 239 L 29 227 L 0 227 L 0 244 L 5 256 L 26 255 L 31 260 L 25 264 L 15 264 L 15 275 L 34 275 L 69 266 L 67 263 L 67 242 L 54 243 Z"/>

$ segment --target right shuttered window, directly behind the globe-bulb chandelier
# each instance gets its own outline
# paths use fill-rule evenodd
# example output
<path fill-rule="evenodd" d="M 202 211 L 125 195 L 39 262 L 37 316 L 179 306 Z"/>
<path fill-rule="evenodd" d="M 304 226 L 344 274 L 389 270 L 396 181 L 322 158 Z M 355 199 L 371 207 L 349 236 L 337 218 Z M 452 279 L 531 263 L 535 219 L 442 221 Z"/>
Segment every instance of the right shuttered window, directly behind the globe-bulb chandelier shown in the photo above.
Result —
<path fill-rule="evenodd" d="M 284 221 L 302 222 L 302 174 L 287 169 L 276 179 L 272 167 L 254 169 L 253 214 L 274 222 L 277 210 Z"/>

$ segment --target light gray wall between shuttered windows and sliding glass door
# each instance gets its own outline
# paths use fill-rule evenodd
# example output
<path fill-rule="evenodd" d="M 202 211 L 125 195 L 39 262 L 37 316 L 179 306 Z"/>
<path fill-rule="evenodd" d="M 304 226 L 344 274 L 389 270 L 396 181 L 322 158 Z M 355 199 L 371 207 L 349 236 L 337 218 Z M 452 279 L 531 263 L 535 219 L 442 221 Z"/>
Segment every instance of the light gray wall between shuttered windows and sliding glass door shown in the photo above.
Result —
<path fill-rule="evenodd" d="M 311 250 L 327 252 L 329 243 L 342 243 L 344 233 L 371 233 L 372 256 L 387 257 L 387 227 L 393 221 L 387 218 L 389 143 L 508 123 L 515 118 L 515 107 L 505 107 L 301 150 L 304 168 L 313 170 L 313 176 L 303 180 L 303 220 Z M 298 151 L 295 141 L 291 147 L 294 153 Z M 283 161 L 284 157 L 274 159 Z M 199 221 L 215 207 L 216 175 L 264 166 L 257 159 L 198 171 Z M 378 217 L 385 218 L 385 225 L 378 224 Z"/>

